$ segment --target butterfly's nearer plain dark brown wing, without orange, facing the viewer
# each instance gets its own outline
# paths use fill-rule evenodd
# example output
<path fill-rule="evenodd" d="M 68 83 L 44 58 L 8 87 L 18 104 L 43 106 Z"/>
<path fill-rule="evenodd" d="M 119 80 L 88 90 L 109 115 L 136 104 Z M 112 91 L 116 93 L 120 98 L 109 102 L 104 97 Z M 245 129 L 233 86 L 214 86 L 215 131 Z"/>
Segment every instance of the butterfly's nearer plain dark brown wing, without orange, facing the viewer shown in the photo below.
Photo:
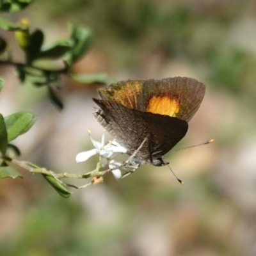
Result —
<path fill-rule="evenodd" d="M 166 154 L 188 131 L 188 123 L 179 118 L 130 109 L 110 100 L 93 100 L 102 110 L 104 126 L 115 132 L 116 140 L 129 154 L 147 138 L 136 154 L 147 162 Z M 99 110 L 95 111 L 99 113 Z"/>

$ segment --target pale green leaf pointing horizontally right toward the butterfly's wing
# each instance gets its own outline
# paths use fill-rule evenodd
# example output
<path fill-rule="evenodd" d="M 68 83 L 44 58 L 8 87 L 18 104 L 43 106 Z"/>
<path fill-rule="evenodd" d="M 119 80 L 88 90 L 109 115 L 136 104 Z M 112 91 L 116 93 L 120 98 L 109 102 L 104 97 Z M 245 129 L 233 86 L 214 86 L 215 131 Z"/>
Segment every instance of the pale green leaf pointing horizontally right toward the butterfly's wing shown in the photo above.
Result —
<path fill-rule="evenodd" d="M 70 74 L 69 76 L 82 84 L 111 84 L 115 82 L 108 76 L 106 72 L 100 72 L 95 74 Z"/>

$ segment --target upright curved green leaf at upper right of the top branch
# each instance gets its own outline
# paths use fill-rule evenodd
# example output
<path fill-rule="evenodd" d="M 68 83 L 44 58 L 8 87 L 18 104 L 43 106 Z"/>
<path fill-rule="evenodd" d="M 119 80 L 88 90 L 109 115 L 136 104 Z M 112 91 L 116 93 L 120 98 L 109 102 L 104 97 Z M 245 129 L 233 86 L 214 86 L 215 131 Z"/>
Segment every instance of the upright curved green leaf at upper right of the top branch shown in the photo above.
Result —
<path fill-rule="evenodd" d="M 65 58 L 68 65 L 79 60 L 92 45 L 92 32 L 89 29 L 70 24 L 70 30 L 72 48 L 67 52 Z"/>

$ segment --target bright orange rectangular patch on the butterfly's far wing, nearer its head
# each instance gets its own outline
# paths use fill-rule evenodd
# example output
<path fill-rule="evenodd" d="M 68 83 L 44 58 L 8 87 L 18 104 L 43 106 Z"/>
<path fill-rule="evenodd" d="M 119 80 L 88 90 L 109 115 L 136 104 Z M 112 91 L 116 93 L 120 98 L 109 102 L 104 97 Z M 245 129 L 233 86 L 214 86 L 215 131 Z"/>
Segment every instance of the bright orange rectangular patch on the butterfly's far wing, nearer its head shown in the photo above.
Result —
<path fill-rule="evenodd" d="M 179 104 L 176 100 L 161 96 L 152 97 L 147 106 L 148 112 L 160 115 L 176 116 L 179 110 Z"/>

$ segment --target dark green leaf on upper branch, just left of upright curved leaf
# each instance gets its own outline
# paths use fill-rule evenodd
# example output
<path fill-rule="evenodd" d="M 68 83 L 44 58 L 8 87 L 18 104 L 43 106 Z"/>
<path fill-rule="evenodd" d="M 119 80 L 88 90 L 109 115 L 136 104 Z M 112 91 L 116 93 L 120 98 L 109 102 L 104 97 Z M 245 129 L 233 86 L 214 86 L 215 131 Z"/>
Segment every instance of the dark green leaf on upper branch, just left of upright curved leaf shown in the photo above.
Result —
<path fill-rule="evenodd" d="M 42 48 L 38 58 L 56 59 L 63 56 L 71 47 L 70 40 L 58 40 Z"/>

